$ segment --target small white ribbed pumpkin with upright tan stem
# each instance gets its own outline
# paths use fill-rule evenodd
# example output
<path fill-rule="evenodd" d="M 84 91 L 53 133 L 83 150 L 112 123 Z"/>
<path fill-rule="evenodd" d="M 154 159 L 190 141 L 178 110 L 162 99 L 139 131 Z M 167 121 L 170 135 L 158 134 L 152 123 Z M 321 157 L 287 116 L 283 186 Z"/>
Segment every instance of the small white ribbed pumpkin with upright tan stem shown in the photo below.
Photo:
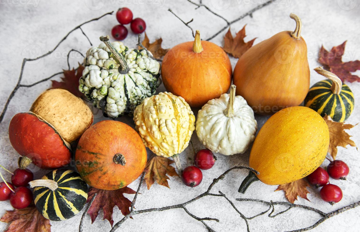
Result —
<path fill-rule="evenodd" d="M 196 133 L 204 146 L 226 156 L 244 153 L 257 130 L 253 110 L 242 96 L 235 97 L 235 89 L 231 85 L 230 94 L 208 101 L 196 121 Z"/>

